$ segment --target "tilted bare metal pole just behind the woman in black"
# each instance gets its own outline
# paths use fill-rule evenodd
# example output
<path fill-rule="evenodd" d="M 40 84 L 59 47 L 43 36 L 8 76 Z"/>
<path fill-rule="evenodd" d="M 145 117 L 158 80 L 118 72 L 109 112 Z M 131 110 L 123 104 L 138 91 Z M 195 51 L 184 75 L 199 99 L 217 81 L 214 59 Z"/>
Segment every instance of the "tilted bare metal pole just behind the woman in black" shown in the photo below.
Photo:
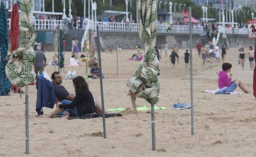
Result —
<path fill-rule="evenodd" d="M 102 71 L 101 71 L 101 48 L 100 48 L 100 33 L 98 29 L 98 24 L 96 26 L 97 29 L 97 49 L 98 49 L 98 57 L 99 57 L 99 66 L 100 66 L 100 83 L 101 83 L 101 105 L 102 105 L 102 118 L 103 118 L 103 135 L 104 138 L 106 136 L 106 125 L 105 125 L 105 108 L 104 108 L 104 97 L 103 97 L 103 84 L 102 84 Z"/>

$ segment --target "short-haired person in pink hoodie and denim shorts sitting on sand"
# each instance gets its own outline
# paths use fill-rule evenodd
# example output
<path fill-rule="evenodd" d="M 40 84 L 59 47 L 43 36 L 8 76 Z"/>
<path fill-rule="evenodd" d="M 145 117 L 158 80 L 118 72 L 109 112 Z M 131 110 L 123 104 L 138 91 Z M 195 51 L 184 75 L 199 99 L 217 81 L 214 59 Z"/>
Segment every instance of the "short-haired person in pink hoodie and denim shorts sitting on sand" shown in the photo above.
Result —
<path fill-rule="evenodd" d="M 232 76 L 233 74 L 230 73 L 232 64 L 230 63 L 223 63 L 222 64 L 222 71 L 219 72 L 218 77 L 218 86 L 219 86 L 219 92 L 225 93 L 225 92 L 233 92 L 237 86 L 239 86 L 242 91 L 245 93 L 249 93 L 247 88 L 245 87 L 245 84 L 242 82 L 241 79 L 237 79 L 232 82 Z M 229 76 L 227 73 L 230 73 Z"/>

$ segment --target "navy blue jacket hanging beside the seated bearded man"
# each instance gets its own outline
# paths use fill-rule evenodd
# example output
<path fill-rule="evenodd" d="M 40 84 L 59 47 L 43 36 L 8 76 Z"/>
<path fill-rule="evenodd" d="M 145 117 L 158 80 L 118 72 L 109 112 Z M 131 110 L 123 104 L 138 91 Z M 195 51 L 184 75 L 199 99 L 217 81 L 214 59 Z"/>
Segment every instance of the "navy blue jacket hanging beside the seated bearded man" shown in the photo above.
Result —
<path fill-rule="evenodd" d="M 56 95 L 53 83 L 43 77 L 43 74 L 37 77 L 37 104 L 36 111 L 38 115 L 43 115 L 43 107 L 53 108 L 56 103 Z"/>

